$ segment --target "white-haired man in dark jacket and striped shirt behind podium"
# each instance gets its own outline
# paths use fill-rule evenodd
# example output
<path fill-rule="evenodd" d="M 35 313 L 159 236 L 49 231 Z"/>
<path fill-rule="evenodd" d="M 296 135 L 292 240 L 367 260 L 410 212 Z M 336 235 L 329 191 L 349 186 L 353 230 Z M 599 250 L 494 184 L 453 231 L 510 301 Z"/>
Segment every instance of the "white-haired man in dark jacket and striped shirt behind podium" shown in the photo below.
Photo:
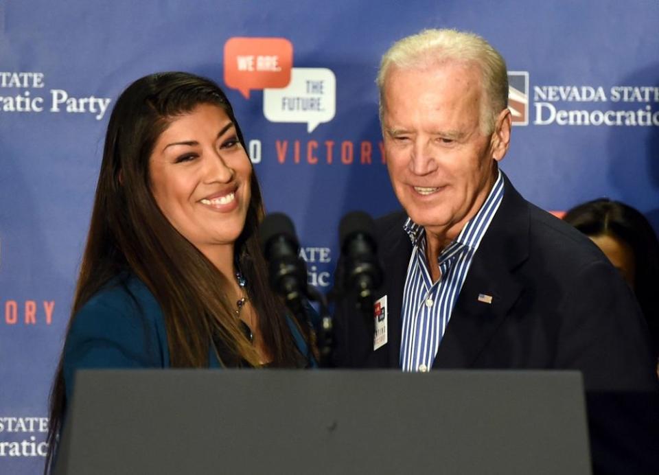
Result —
<path fill-rule="evenodd" d="M 578 369 L 587 389 L 656 384 L 616 269 L 498 169 L 511 137 L 500 54 L 474 34 L 427 30 L 386 52 L 378 86 L 404 211 L 376 222 L 375 319 L 351 299 L 337 305 L 338 366 Z"/>

